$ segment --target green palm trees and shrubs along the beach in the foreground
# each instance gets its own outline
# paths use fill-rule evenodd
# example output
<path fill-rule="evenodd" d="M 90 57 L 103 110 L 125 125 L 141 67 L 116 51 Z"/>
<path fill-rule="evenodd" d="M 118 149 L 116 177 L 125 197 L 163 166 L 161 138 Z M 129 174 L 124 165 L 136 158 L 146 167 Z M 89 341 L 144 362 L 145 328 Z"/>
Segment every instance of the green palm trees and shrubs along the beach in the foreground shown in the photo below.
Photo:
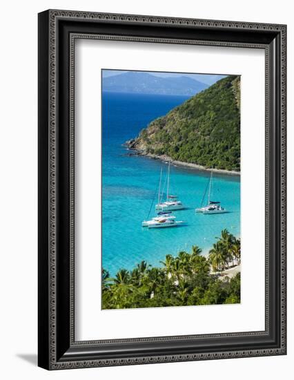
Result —
<path fill-rule="evenodd" d="M 162 267 L 143 260 L 113 278 L 102 269 L 102 309 L 240 303 L 240 245 L 224 229 L 208 256 L 194 245 L 190 253 L 166 255 Z"/>

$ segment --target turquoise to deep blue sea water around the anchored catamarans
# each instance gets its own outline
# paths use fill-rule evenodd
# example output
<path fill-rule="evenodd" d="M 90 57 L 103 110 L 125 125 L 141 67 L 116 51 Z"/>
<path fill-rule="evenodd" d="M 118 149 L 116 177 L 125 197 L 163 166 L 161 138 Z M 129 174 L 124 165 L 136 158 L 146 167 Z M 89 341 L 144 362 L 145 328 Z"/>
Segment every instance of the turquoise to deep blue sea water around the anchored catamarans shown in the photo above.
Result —
<path fill-rule="evenodd" d="M 173 165 L 170 193 L 179 196 L 186 206 L 173 212 L 186 225 L 164 229 L 141 227 L 149 212 L 150 218 L 155 216 L 160 170 L 162 167 L 165 175 L 168 165 L 150 158 L 127 156 L 122 144 L 186 99 L 103 93 L 102 265 L 111 276 L 120 268 L 133 269 L 141 260 L 159 266 L 167 254 L 190 252 L 192 245 L 198 245 L 207 254 L 224 228 L 235 236 L 240 234 L 239 177 L 213 175 L 210 199 L 221 201 L 230 212 L 204 215 L 195 213 L 195 207 L 202 202 L 210 173 Z"/>

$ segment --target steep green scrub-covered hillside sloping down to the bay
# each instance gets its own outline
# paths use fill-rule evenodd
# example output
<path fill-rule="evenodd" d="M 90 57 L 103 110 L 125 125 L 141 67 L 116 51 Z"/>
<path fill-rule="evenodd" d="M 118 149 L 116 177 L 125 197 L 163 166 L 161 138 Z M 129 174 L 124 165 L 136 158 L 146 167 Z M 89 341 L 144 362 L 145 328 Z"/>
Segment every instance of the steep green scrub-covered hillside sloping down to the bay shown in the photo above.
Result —
<path fill-rule="evenodd" d="M 125 145 L 136 155 L 239 173 L 240 77 L 220 79 L 151 122 Z"/>

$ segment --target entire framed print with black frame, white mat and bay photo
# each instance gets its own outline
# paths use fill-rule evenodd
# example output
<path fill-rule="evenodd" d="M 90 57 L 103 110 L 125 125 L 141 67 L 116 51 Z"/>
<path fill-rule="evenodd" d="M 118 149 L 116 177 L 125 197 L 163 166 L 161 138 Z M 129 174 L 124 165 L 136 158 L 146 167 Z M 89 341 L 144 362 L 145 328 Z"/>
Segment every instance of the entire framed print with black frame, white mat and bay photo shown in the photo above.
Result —
<path fill-rule="evenodd" d="M 286 354 L 286 26 L 39 14 L 39 366 Z"/>

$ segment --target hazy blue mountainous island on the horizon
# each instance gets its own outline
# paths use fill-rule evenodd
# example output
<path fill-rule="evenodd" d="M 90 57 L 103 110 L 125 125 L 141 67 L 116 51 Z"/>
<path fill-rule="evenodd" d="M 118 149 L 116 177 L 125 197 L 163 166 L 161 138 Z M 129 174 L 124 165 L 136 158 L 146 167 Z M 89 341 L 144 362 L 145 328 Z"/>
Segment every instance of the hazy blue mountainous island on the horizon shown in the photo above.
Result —
<path fill-rule="evenodd" d="M 157 77 L 144 71 L 128 71 L 104 77 L 102 91 L 110 93 L 137 93 L 150 95 L 195 95 L 208 84 L 182 75 Z"/>

